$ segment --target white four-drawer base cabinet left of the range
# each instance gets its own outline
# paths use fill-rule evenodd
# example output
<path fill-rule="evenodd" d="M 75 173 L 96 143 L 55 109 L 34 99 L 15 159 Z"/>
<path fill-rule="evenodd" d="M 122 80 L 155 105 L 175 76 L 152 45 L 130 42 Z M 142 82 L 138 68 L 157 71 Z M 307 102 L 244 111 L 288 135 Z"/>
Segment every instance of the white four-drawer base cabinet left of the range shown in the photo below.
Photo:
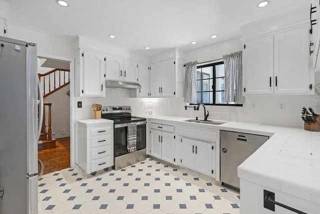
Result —
<path fill-rule="evenodd" d="M 112 120 L 76 122 L 75 163 L 87 174 L 113 166 Z"/>

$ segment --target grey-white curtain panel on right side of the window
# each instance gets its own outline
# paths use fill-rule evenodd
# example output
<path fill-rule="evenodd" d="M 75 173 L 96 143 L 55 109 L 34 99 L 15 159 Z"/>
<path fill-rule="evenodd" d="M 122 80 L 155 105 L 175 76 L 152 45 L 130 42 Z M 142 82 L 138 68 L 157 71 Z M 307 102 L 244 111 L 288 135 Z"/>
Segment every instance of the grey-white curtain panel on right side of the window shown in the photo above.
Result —
<path fill-rule="evenodd" d="M 224 101 L 243 104 L 242 96 L 242 51 L 224 55 Z"/>

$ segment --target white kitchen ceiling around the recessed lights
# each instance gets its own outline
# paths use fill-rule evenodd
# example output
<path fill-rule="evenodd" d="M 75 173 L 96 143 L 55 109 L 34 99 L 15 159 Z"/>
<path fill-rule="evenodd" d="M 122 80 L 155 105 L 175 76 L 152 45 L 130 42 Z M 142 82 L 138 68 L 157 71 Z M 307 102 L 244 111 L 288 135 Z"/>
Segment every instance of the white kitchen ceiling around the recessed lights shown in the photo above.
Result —
<path fill-rule="evenodd" d="M 9 24 L 50 35 L 85 36 L 141 54 L 185 50 L 239 37 L 239 26 L 310 4 L 309 0 L 8 0 Z M 117 38 L 109 39 L 113 34 Z M 217 39 L 209 36 L 217 34 Z M 196 45 L 190 45 L 197 41 Z M 151 50 L 144 50 L 149 46 Z"/>

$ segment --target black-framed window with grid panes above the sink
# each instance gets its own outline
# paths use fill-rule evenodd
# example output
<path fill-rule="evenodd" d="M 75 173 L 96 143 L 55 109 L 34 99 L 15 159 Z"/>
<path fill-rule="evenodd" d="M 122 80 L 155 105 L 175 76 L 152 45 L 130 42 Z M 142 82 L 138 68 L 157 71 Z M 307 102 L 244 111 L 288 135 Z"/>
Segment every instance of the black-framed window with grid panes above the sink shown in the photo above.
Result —
<path fill-rule="evenodd" d="M 223 62 L 197 66 L 196 102 L 206 105 L 234 105 L 224 102 Z"/>

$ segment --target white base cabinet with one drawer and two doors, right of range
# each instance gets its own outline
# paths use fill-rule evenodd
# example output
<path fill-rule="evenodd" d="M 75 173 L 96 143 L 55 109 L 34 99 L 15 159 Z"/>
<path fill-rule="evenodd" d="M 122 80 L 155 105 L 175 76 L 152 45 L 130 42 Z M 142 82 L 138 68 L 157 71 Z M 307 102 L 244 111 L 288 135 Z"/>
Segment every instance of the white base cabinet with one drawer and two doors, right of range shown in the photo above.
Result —
<path fill-rule="evenodd" d="M 174 162 L 174 127 L 150 124 L 150 155 L 169 163 Z"/>

